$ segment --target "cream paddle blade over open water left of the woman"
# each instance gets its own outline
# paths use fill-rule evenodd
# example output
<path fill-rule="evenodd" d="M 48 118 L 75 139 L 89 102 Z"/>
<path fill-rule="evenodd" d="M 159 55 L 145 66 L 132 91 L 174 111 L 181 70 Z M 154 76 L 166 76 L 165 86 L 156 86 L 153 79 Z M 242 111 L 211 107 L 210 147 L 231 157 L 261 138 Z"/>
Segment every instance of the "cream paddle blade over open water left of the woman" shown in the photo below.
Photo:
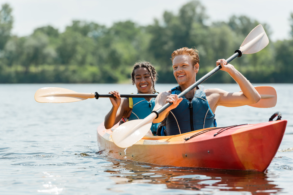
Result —
<path fill-rule="evenodd" d="M 66 103 L 94 97 L 92 93 L 77 93 L 60 87 L 43 87 L 35 93 L 35 101 L 40 103 Z"/>

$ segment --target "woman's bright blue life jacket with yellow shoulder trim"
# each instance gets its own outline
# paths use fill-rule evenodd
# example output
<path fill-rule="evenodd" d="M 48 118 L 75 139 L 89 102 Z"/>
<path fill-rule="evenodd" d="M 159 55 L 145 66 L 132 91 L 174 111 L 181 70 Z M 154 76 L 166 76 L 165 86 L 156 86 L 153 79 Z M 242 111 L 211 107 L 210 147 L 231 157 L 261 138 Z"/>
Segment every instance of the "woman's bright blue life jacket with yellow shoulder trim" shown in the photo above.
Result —
<path fill-rule="evenodd" d="M 132 108 L 130 117 L 128 120 L 144 119 L 151 114 L 155 106 L 155 98 L 152 98 L 151 101 L 147 101 L 144 98 L 128 98 L 129 107 Z M 156 135 L 157 128 L 160 123 L 152 123 L 151 132 Z"/>

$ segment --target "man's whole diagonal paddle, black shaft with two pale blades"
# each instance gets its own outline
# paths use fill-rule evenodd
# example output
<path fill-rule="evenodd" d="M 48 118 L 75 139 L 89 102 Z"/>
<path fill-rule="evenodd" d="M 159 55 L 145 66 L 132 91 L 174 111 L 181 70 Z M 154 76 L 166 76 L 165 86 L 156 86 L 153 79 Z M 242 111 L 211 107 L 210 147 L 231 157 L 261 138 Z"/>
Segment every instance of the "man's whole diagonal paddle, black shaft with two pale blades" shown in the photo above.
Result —
<path fill-rule="evenodd" d="M 262 50 L 263 48 L 265 48 L 265 46 L 267 46 L 268 43 L 269 43 L 269 39 L 268 39 L 268 36 L 265 34 L 265 30 L 263 29 L 263 26 L 258 25 L 247 35 L 247 37 L 241 44 L 240 48 L 236 50 L 232 56 L 226 59 L 226 61 L 227 63 L 229 63 L 236 57 L 241 57 L 242 54 L 256 53 Z M 207 78 L 212 76 L 221 68 L 222 68 L 221 65 L 214 68 L 212 71 L 210 71 L 205 76 L 200 78 L 197 82 L 195 82 L 190 87 L 188 87 L 183 92 L 181 92 L 178 95 L 178 97 L 179 98 L 183 97 L 191 89 L 194 89 L 197 85 L 204 82 Z M 149 132 L 149 129 L 151 127 L 151 122 L 155 118 L 157 118 L 161 112 L 163 112 L 166 108 L 171 106 L 171 104 L 172 103 L 166 103 L 159 110 L 153 111 L 150 115 L 148 115 L 144 119 L 130 120 L 123 123 L 122 125 L 119 125 L 119 127 L 117 127 L 112 133 L 113 142 L 120 148 L 127 148 L 129 146 L 132 146 L 134 143 L 142 139 L 142 137 L 144 137 L 144 135 L 147 134 L 147 132 Z"/>

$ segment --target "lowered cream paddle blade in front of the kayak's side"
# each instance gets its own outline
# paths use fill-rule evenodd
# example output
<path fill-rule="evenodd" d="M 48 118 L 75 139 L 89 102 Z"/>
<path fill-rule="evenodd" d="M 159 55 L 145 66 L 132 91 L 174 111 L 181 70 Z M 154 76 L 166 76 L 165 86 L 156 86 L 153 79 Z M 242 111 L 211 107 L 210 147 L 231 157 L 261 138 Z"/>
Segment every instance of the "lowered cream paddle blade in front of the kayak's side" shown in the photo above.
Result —
<path fill-rule="evenodd" d="M 128 148 L 142 139 L 151 129 L 152 121 L 156 118 L 155 113 L 151 113 L 144 119 L 130 120 L 112 133 L 112 140 L 120 148 Z"/>

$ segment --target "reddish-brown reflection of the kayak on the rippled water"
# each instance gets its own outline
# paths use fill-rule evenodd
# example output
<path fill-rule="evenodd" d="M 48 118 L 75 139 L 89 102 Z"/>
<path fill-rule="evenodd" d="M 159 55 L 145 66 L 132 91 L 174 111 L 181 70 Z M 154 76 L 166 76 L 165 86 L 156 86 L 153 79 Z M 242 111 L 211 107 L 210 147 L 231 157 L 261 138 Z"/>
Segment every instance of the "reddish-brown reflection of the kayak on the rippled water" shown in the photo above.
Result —
<path fill-rule="evenodd" d="M 265 195 L 282 191 L 264 172 L 164 167 L 127 160 L 109 161 L 113 164 L 105 172 L 113 174 L 111 179 L 116 184 L 165 184 L 168 189 L 198 190 L 205 191 L 205 194 L 234 191 Z"/>

